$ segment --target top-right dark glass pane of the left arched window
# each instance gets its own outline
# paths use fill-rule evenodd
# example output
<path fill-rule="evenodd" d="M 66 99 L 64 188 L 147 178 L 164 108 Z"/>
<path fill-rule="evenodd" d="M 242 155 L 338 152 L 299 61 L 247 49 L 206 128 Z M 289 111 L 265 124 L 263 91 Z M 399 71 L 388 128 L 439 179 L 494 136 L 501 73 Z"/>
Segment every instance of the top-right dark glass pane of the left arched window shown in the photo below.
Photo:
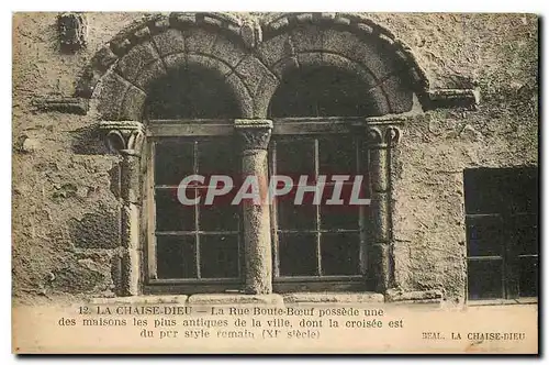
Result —
<path fill-rule="evenodd" d="M 228 175 L 232 178 L 238 174 L 236 161 L 238 155 L 232 139 L 215 139 L 199 142 L 199 174 Z"/>

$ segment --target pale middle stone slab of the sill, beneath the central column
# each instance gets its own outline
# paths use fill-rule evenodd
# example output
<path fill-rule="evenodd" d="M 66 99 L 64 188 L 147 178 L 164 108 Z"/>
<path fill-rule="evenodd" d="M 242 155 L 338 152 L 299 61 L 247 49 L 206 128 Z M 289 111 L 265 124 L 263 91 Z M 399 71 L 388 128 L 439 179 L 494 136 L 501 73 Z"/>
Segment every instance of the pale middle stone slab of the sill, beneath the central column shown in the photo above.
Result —
<path fill-rule="evenodd" d="M 244 295 L 244 294 L 195 294 L 189 297 L 191 306 L 222 305 L 270 305 L 283 306 L 283 298 L 278 294 Z"/>

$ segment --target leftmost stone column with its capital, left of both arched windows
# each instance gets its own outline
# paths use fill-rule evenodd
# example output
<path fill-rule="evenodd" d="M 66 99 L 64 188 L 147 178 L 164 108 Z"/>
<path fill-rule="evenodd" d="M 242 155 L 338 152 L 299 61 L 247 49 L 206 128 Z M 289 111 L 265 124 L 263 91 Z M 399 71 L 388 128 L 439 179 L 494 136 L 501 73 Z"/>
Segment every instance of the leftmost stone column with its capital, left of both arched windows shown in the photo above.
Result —
<path fill-rule="evenodd" d="M 139 122 L 101 122 L 107 145 L 122 156 L 121 162 L 121 283 L 120 296 L 139 294 L 139 156 L 144 140 Z"/>

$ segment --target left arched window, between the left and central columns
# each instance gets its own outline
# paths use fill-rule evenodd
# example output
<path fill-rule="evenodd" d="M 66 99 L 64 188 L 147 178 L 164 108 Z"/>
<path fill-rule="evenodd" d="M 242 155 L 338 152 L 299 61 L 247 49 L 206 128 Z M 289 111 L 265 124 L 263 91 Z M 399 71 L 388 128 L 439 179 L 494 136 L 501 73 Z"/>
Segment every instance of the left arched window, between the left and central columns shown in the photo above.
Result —
<path fill-rule="evenodd" d="M 181 67 L 155 80 L 148 95 L 144 115 L 153 131 L 145 211 L 148 288 L 163 290 L 165 285 L 183 292 L 238 288 L 243 272 L 238 207 L 224 201 L 184 206 L 178 199 L 178 186 L 187 176 L 238 174 L 232 129 L 209 128 L 212 121 L 238 117 L 235 98 L 221 76 L 199 66 Z M 190 187 L 187 196 L 204 196 L 203 190 Z"/>

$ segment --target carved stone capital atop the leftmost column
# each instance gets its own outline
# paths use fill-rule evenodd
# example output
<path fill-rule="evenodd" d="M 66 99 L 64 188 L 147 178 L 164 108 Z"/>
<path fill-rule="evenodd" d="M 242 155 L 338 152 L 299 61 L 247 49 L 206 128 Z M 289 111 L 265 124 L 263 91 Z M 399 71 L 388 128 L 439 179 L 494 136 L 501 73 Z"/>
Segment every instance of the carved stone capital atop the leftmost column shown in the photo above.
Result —
<path fill-rule="evenodd" d="M 134 121 L 100 122 L 99 130 L 102 132 L 109 150 L 122 155 L 139 156 L 145 139 L 142 123 Z"/>

